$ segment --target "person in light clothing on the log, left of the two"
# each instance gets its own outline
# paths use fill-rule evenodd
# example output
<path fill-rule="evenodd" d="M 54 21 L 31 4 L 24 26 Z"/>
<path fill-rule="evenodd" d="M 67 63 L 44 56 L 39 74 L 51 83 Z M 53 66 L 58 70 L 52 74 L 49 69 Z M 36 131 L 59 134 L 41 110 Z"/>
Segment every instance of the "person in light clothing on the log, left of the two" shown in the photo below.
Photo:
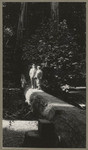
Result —
<path fill-rule="evenodd" d="M 36 74 L 36 67 L 35 67 L 35 64 L 33 64 L 32 68 L 29 71 L 29 76 L 30 76 L 30 80 L 31 80 L 31 88 L 32 89 L 35 88 L 35 74 Z"/>

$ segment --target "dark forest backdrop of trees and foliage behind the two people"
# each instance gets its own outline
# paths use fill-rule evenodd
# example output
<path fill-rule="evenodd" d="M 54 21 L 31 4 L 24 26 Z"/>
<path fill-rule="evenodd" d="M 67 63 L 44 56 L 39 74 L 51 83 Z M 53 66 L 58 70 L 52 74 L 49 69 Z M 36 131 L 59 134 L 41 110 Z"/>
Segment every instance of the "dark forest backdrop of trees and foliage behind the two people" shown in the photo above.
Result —
<path fill-rule="evenodd" d="M 44 89 L 85 86 L 86 4 L 60 2 L 54 19 L 50 3 L 26 7 L 21 31 L 22 4 L 3 3 L 3 86 L 20 87 L 21 74 L 29 82 L 32 63 L 42 67 Z"/>

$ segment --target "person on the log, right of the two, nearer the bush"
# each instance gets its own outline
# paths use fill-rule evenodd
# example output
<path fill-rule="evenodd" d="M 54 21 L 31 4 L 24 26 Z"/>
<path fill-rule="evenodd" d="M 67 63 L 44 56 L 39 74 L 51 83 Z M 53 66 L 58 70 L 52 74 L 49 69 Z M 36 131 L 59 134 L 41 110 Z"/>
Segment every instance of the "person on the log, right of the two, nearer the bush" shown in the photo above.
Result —
<path fill-rule="evenodd" d="M 36 71 L 36 86 L 38 88 L 38 90 L 41 89 L 41 80 L 42 80 L 42 76 L 43 76 L 43 72 L 41 70 L 40 66 L 37 66 L 37 71 Z"/>

